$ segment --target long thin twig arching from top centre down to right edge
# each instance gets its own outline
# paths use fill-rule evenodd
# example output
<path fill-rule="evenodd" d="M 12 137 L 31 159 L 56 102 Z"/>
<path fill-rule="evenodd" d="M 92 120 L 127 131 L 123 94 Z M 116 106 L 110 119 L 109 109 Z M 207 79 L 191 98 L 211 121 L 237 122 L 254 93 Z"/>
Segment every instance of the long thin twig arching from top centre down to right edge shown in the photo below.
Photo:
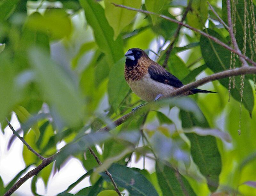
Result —
<path fill-rule="evenodd" d="M 112 3 L 113 4 L 113 3 Z M 127 6 L 124 6 L 124 5 L 119 5 L 119 4 L 114 4 L 116 7 L 121 7 L 121 8 L 125 8 L 127 10 L 132 10 L 132 11 L 137 11 L 137 12 L 141 12 L 141 13 L 145 13 L 145 14 L 153 14 L 153 15 L 156 15 L 158 17 L 161 17 L 161 18 L 164 18 L 166 20 L 169 20 L 171 22 L 174 22 L 174 23 L 177 23 L 177 24 L 180 24 L 181 26 L 185 26 L 186 28 L 189 28 L 205 37 L 208 37 L 209 39 L 211 39 L 212 41 L 214 41 L 215 43 L 223 46 L 224 48 L 230 50 L 231 52 L 237 54 L 239 57 L 241 58 L 244 58 L 246 61 L 248 61 L 249 63 L 253 64 L 254 66 L 256 66 L 256 62 L 254 62 L 252 59 L 250 59 L 249 57 L 246 57 L 244 56 L 243 54 L 241 54 L 241 52 L 237 52 L 235 49 L 231 48 L 230 46 L 228 46 L 227 44 L 223 43 L 222 41 L 220 41 L 219 39 L 217 39 L 216 37 L 212 36 L 212 35 L 209 35 L 199 29 L 196 29 L 192 26 L 189 26 L 187 24 L 184 24 L 178 20 L 175 20 L 175 19 L 172 19 L 172 18 L 169 18 L 165 15 L 162 15 L 162 14 L 157 14 L 157 13 L 154 13 L 154 12 L 151 12 L 151 11 L 146 11 L 146 10 L 140 10 L 140 9 L 136 9 L 136 8 L 132 8 L 132 7 L 127 7 Z"/>

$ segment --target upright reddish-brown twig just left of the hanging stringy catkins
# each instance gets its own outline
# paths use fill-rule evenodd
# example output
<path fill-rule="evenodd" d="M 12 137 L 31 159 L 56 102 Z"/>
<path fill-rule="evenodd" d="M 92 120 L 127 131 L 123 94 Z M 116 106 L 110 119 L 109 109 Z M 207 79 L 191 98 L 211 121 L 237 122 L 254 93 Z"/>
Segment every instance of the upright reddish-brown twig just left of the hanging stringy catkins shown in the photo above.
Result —
<path fill-rule="evenodd" d="M 239 60 L 242 62 L 242 66 L 249 66 L 248 63 L 246 62 L 246 59 L 244 57 L 242 57 L 242 52 L 238 47 L 238 44 L 236 42 L 236 38 L 234 35 L 234 31 L 233 31 L 233 24 L 232 24 L 232 19 L 231 19 L 231 5 L 230 5 L 230 0 L 227 0 L 227 11 L 228 11 L 228 32 L 230 34 L 230 38 L 233 44 L 233 47 L 236 51 L 236 54 L 239 56 Z M 235 14 L 235 13 L 234 13 Z"/>

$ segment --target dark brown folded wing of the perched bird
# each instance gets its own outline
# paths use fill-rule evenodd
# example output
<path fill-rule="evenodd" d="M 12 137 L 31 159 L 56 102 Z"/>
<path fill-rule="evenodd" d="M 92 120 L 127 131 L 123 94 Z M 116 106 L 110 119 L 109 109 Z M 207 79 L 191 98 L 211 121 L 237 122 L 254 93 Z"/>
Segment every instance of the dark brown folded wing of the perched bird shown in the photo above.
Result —
<path fill-rule="evenodd" d="M 176 78 L 171 73 L 167 72 L 160 65 L 156 65 L 156 64 L 150 65 L 148 67 L 148 73 L 150 75 L 150 78 L 158 82 L 170 85 L 172 87 L 178 87 L 178 88 L 183 86 L 182 82 L 178 78 Z"/>

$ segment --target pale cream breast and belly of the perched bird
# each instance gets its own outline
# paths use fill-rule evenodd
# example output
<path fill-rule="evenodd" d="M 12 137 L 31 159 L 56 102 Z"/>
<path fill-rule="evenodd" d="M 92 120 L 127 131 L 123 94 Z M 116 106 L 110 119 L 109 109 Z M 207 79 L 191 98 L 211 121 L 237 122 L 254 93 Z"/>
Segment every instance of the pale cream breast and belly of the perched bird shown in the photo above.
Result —
<path fill-rule="evenodd" d="M 158 94 L 166 95 L 177 89 L 151 79 L 148 73 L 140 80 L 129 80 L 127 83 L 135 94 L 147 102 L 153 101 Z"/>

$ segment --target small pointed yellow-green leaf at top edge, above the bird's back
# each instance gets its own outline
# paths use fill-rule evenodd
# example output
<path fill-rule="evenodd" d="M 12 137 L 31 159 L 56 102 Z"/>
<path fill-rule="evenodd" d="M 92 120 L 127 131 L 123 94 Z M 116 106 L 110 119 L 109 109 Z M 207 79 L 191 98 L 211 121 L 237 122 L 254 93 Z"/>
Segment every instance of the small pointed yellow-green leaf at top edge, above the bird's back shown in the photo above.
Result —
<path fill-rule="evenodd" d="M 145 0 L 145 6 L 148 11 L 159 13 L 164 7 L 164 0 Z M 158 16 L 150 14 L 153 25 L 156 25 Z"/>

